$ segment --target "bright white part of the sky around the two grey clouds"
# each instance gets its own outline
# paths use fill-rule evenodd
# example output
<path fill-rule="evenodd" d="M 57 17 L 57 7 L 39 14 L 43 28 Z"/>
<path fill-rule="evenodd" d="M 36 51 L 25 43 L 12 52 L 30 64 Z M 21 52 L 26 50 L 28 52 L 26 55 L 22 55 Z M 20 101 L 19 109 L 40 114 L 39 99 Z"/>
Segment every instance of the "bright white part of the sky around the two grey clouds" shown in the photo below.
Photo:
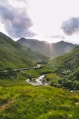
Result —
<path fill-rule="evenodd" d="M 79 17 L 79 0 L 0 0 L 0 3 L 3 1 L 6 4 L 9 1 L 9 5 L 27 11 L 33 23 L 30 29 L 37 34 L 36 38 L 51 42 L 62 40 L 51 36 L 66 36 L 61 30 L 63 21 Z M 73 36 L 76 39 L 73 40 L 66 36 L 64 40 L 78 43 L 78 37 L 78 34 Z"/>

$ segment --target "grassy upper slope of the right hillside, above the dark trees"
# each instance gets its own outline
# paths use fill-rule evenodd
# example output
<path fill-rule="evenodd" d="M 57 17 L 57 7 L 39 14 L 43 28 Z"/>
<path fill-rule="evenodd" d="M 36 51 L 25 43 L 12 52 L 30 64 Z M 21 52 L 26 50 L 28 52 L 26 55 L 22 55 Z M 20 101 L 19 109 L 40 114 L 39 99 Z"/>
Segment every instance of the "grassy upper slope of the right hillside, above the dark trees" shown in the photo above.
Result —
<path fill-rule="evenodd" d="M 79 46 L 74 48 L 69 53 L 51 60 L 49 64 L 52 66 L 55 65 L 58 68 L 62 67 L 65 69 L 74 69 L 79 67 Z"/>

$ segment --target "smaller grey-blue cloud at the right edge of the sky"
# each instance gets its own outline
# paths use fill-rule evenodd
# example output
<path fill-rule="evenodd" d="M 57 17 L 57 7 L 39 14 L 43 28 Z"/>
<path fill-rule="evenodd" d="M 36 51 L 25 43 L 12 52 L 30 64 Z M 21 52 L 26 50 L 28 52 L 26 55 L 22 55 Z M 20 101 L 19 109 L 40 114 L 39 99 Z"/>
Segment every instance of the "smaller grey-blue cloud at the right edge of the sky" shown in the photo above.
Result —
<path fill-rule="evenodd" d="M 73 35 L 79 32 L 79 17 L 72 17 L 63 22 L 61 27 L 66 35 Z"/>

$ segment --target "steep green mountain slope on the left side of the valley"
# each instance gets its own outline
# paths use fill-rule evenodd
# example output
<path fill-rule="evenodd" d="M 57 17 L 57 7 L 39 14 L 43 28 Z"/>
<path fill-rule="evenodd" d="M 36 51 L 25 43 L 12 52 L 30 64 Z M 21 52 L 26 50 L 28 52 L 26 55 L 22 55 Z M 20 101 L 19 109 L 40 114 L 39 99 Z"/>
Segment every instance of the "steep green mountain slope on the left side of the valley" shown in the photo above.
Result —
<path fill-rule="evenodd" d="M 37 54 L 11 38 L 0 33 L 0 68 L 27 67 L 34 61 L 46 60 L 45 56 Z"/>

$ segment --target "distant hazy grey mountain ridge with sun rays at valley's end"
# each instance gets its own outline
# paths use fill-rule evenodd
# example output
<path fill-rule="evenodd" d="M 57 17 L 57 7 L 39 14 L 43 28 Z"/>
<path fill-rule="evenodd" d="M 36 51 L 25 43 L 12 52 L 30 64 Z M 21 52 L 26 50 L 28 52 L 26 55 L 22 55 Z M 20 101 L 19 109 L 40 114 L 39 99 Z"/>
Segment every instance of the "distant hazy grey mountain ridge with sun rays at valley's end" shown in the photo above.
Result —
<path fill-rule="evenodd" d="M 25 38 L 21 38 L 17 42 L 19 42 L 23 46 L 31 48 L 33 51 L 39 52 L 45 56 L 52 58 L 65 54 L 76 46 L 73 45 L 72 43 L 67 43 L 64 41 L 50 44 L 44 41 Z"/>

